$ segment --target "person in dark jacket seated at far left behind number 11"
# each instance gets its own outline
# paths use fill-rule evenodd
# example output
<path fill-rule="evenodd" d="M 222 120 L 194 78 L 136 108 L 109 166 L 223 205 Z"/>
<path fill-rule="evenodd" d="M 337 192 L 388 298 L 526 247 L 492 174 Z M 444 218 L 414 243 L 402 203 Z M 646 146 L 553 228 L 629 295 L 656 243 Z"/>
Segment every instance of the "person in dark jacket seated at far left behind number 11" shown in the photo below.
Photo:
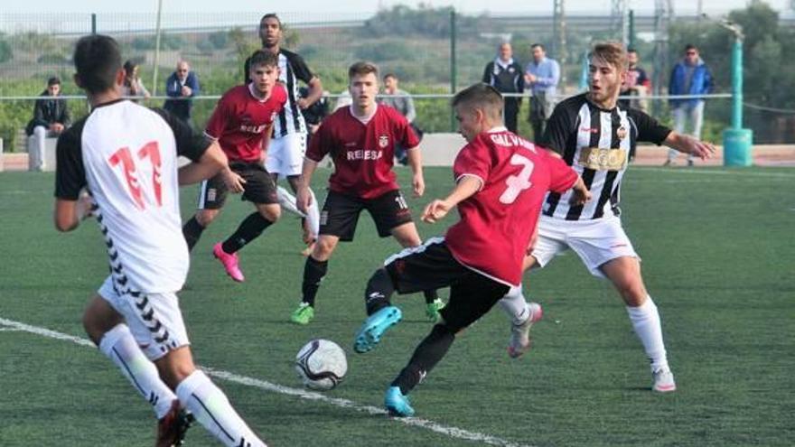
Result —
<path fill-rule="evenodd" d="M 41 99 L 36 99 L 33 106 L 33 119 L 25 126 L 25 133 L 33 135 L 35 144 L 33 152 L 33 167 L 36 171 L 44 169 L 44 147 L 47 137 L 61 135 L 69 125 L 69 107 L 61 96 L 61 79 L 53 76 L 47 79 L 47 89 L 42 91 Z"/>

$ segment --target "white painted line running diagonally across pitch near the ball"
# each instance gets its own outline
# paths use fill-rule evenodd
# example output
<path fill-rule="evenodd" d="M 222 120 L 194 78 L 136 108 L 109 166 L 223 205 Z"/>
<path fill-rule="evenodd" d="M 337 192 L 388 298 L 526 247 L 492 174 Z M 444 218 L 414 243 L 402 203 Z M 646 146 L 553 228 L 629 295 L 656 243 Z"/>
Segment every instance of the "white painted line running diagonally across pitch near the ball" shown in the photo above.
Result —
<path fill-rule="evenodd" d="M 94 348 L 94 343 L 92 343 L 90 340 L 83 339 L 80 337 L 75 337 L 73 335 L 65 334 L 62 332 L 51 331 L 49 329 L 42 328 L 39 326 L 32 326 L 30 324 L 25 324 L 20 321 L 6 320 L 5 318 L 0 317 L 0 325 L 5 326 L 5 328 L 0 328 L 0 330 L 13 329 L 15 331 L 25 331 L 35 335 L 41 335 L 42 337 L 48 337 L 55 340 L 71 341 L 72 343 L 78 344 L 80 346 L 88 346 Z M 340 408 L 354 410 L 360 413 L 366 413 L 371 415 L 387 415 L 387 411 L 379 407 L 372 405 L 360 405 L 348 399 L 324 396 L 321 393 L 306 391 L 302 388 L 293 388 L 290 386 L 277 385 L 268 382 L 267 380 L 260 380 L 253 377 L 240 376 L 238 374 L 229 371 L 224 371 L 222 369 L 215 369 L 209 367 L 201 367 L 201 369 L 203 369 L 211 377 L 220 378 L 221 380 L 226 380 L 227 382 L 232 382 L 239 385 L 253 386 L 255 388 L 259 388 L 265 391 L 270 391 L 272 393 L 277 393 L 286 396 L 295 396 L 305 400 L 323 402 L 324 404 L 330 404 L 338 406 Z M 441 433 L 451 438 L 462 439 L 465 441 L 482 442 L 485 444 L 497 445 L 500 447 L 529 447 L 527 444 L 510 442 L 501 438 L 497 438 L 495 436 L 491 436 L 489 434 L 470 432 L 469 430 L 463 430 L 462 428 L 449 427 L 447 425 L 435 423 L 434 421 L 430 421 L 427 419 L 420 419 L 417 417 L 395 417 L 392 418 L 391 420 L 413 427 L 425 428 L 426 430 L 430 430 L 431 432 Z"/>

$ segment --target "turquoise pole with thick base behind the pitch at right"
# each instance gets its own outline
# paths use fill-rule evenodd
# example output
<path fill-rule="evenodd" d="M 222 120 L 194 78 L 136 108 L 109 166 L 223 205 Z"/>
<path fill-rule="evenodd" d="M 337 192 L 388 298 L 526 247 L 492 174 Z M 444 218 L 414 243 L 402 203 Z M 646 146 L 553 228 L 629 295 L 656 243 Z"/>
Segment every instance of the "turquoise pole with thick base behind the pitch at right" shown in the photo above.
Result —
<path fill-rule="evenodd" d="M 743 28 L 729 21 L 720 25 L 734 34 L 732 48 L 732 126 L 724 131 L 724 165 L 751 166 L 753 131 L 743 128 Z"/>

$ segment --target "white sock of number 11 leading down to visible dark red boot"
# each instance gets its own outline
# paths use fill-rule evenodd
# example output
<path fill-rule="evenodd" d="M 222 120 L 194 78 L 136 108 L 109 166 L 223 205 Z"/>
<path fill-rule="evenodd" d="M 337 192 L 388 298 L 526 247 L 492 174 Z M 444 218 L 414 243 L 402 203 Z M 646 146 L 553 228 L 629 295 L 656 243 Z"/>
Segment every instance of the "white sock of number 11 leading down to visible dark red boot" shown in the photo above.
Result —
<path fill-rule="evenodd" d="M 168 413 L 177 396 L 161 380 L 154 363 L 138 348 L 136 339 L 126 324 L 118 324 L 106 332 L 99 341 L 99 350 L 116 363 L 141 396 L 154 406 L 157 419 Z"/>

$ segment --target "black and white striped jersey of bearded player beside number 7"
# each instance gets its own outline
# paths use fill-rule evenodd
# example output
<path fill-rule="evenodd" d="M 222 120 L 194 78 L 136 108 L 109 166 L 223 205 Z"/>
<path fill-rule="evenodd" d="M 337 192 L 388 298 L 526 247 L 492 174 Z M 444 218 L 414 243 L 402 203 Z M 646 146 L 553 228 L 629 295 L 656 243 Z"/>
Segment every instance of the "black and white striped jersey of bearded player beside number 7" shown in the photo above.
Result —
<path fill-rule="evenodd" d="M 555 107 L 540 144 L 563 156 L 583 177 L 593 199 L 570 206 L 572 191 L 550 192 L 542 210 L 545 216 L 566 220 L 618 216 L 631 148 L 638 141 L 662 144 L 671 131 L 640 110 L 620 106 L 605 110 L 586 95 L 568 98 Z"/>

